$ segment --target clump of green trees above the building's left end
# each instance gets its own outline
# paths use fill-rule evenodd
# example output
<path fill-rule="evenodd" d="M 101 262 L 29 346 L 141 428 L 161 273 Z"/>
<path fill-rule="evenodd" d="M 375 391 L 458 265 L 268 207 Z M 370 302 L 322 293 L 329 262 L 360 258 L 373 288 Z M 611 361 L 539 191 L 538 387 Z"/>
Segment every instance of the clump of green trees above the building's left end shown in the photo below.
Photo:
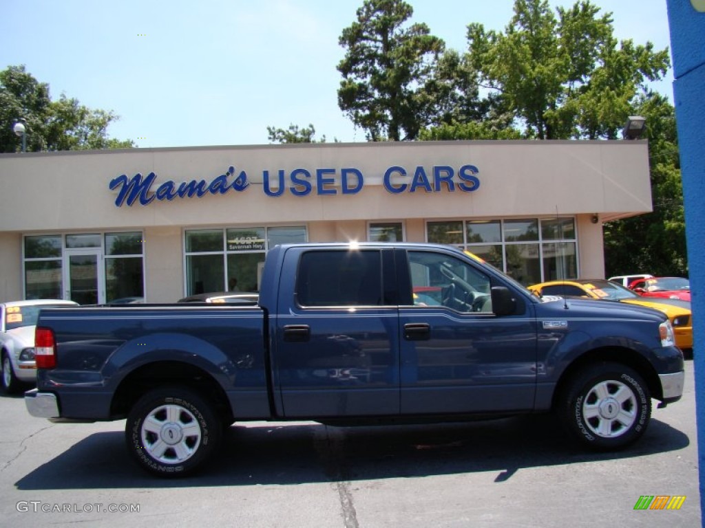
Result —
<path fill-rule="evenodd" d="M 11 130 L 18 118 L 27 122 L 30 152 L 135 146 L 130 139 L 108 137 L 108 126 L 118 119 L 113 112 L 87 108 L 64 94 L 51 101 L 49 84 L 37 81 L 24 65 L 0 72 L 0 152 L 20 151 L 20 141 Z"/>

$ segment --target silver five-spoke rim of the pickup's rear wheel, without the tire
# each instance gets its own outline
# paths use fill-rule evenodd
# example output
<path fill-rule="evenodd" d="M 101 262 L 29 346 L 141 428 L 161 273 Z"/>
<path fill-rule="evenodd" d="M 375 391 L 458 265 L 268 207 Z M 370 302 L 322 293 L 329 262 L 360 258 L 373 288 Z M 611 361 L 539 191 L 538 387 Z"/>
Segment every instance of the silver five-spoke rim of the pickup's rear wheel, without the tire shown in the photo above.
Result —
<path fill-rule="evenodd" d="M 163 405 L 145 417 L 140 436 L 142 445 L 154 460 L 175 464 L 185 462 L 198 451 L 202 430 L 190 410 Z"/>

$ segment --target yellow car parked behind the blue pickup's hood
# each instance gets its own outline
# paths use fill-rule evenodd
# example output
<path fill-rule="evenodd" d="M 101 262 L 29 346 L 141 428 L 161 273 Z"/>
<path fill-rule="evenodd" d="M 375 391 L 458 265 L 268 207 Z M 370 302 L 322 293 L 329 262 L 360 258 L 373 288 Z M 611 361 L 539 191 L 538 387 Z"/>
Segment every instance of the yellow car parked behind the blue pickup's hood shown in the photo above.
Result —
<path fill-rule="evenodd" d="M 656 308 L 656 310 L 665 313 L 670 320 L 670 324 L 673 325 L 676 346 L 681 349 L 693 348 L 692 313 L 690 311 L 690 303 L 687 301 L 645 298 L 620 284 L 605 279 L 541 282 L 541 284 L 529 286 L 529 290 L 539 297 L 544 295 L 588 297 Z"/>

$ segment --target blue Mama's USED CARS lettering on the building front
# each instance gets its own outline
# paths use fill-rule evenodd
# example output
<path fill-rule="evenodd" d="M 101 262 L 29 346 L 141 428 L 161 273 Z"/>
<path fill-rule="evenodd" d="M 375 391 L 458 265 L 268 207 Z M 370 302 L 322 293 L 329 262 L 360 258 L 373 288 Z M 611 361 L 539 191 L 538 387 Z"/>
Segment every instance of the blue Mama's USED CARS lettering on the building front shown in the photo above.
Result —
<path fill-rule="evenodd" d="M 443 190 L 472 192 L 479 189 L 478 174 L 479 170 L 474 165 L 462 165 L 457 170 L 448 165 L 434 165 L 431 168 L 419 165 L 411 170 L 393 165 L 384 171 L 381 183 L 391 194 Z M 212 180 L 180 183 L 167 180 L 159 184 L 154 172 L 149 172 L 147 176 L 138 172 L 133 177 L 123 174 L 111 180 L 110 189 L 117 191 L 115 205 L 122 207 L 133 206 L 135 203 L 147 206 L 155 200 L 172 201 L 176 198 L 201 198 L 207 194 L 241 193 L 249 190 L 251 184 L 244 170 L 238 173 L 234 167 L 230 167 L 225 174 Z M 357 194 L 363 187 L 364 175 L 356 168 L 262 171 L 262 191 L 267 196 Z"/>

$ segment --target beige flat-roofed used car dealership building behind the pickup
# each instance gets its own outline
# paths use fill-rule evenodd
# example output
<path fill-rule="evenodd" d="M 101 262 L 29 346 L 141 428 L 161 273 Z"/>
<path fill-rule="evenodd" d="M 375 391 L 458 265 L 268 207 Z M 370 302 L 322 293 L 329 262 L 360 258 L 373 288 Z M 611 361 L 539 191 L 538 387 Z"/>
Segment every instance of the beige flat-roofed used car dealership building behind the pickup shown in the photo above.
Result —
<path fill-rule="evenodd" d="M 0 301 L 257 291 L 305 241 L 465 248 L 523 284 L 604 277 L 651 211 L 645 141 L 211 146 L 0 155 Z"/>

